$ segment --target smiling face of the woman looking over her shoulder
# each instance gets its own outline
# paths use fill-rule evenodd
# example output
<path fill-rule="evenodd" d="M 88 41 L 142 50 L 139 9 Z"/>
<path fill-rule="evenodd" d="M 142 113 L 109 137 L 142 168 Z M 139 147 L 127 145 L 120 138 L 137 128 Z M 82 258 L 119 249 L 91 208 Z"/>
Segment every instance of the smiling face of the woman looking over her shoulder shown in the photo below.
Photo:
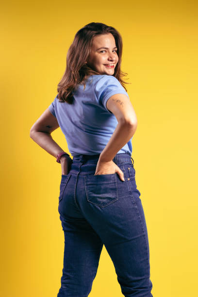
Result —
<path fill-rule="evenodd" d="M 114 74 L 118 55 L 112 33 L 94 36 L 91 52 L 86 62 L 88 66 L 97 70 L 100 74 Z"/>

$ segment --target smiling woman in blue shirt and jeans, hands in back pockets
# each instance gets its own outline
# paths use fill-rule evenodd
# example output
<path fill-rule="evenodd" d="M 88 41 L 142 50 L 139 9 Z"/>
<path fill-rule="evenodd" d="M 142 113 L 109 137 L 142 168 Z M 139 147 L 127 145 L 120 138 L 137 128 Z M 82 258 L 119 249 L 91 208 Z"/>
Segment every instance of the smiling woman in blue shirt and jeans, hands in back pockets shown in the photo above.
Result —
<path fill-rule="evenodd" d="M 121 54 L 115 28 L 90 23 L 79 30 L 58 95 L 31 128 L 31 138 L 62 168 L 58 297 L 89 295 L 103 244 L 122 294 L 152 297 L 147 226 L 131 157 L 137 119 L 121 79 Z M 51 137 L 58 127 L 73 159 Z"/>

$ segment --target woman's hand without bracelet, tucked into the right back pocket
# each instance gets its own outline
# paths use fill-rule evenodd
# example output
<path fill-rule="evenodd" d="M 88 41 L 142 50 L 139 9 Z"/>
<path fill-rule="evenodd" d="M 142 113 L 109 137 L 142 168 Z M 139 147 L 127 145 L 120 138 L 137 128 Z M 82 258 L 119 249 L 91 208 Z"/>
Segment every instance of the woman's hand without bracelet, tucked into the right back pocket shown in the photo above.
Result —
<path fill-rule="evenodd" d="M 98 161 L 94 175 L 117 173 L 120 180 L 124 181 L 124 173 L 113 161 Z"/>

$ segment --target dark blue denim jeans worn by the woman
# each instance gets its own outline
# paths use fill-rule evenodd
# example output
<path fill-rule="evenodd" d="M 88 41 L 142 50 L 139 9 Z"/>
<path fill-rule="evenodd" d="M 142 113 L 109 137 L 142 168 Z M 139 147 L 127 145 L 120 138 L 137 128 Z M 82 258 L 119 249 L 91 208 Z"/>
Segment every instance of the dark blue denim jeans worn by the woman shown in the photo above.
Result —
<path fill-rule="evenodd" d="M 148 233 L 134 161 L 128 153 L 115 155 L 122 181 L 117 173 L 94 175 L 98 159 L 99 155 L 73 156 L 68 174 L 61 177 L 58 211 L 65 249 L 57 297 L 89 295 L 103 244 L 122 294 L 152 297 Z"/>

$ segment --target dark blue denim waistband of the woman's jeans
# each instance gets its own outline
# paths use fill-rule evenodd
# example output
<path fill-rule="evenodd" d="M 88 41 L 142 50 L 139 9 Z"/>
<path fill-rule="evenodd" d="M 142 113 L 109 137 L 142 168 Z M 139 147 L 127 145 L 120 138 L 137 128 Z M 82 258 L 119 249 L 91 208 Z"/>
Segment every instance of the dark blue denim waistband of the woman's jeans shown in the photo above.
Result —
<path fill-rule="evenodd" d="M 76 155 L 73 156 L 73 162 L 74 163 L 83 163 L 86 162 L 86 160 L 98 160 L 99 159 L 100 154 L 97 155 Z M 131 161 L 132 156 L 129 153 L 121 153 L 121 154 L 116 154 L 115 157 L 113 158 L 113 162 L 115 164 L 119 163 L 119 162 L 129 162 Z M 134 161 L 132 159 L 132 165 L 134 164 Z"/>

